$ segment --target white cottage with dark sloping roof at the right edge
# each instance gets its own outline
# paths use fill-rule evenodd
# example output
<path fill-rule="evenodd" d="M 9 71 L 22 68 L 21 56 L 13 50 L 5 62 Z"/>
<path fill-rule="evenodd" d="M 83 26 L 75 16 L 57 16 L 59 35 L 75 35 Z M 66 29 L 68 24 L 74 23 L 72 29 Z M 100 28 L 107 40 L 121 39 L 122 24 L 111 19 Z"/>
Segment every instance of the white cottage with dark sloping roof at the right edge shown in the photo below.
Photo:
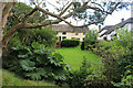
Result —
<path fill-rule="evenodd" d="M 100 37 L 103 40 L 112 40 L 112 36 L 116 36 L 116 29 L 121 29 L 126 26 L 127 30 L 130 31 L 131 29 L 133 29 L 133 18 L 130 18 L 127 20 L 124 21 L 124 19 L 122 19 L 122 22 L 120 22 L 116 25 L 108 25 L 104 26 L 99 33 L 100 33 Z"/>

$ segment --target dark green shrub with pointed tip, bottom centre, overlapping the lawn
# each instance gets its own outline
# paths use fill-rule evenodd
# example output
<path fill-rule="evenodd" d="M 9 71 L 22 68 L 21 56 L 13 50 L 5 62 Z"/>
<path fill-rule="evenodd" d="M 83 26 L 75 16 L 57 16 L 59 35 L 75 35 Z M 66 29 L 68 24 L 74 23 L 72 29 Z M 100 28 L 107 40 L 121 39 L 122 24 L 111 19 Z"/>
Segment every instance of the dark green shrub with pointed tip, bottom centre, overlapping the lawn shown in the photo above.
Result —
<path fill-rule="evenodd" d="M 86 58 L 83 59 L 80 70 L 70 70 L 66 76 L 66 84 L 70 88 L 85 88 L 84 81 L 85 78 L 92 74 L 91 65 L 86 62 Z"/>

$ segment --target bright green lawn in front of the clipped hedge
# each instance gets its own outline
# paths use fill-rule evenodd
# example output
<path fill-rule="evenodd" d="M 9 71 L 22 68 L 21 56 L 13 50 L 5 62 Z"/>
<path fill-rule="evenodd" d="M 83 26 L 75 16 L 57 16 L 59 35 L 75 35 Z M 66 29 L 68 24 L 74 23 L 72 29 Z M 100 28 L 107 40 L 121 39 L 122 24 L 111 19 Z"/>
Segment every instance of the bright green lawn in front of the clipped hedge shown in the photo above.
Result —
<path fill-rule="evenodd" d="M 82 65 L 83 57 L 85 57 L 91 64 L 92 68 L 96 69 L 101 64 L 101 57 L 93 54 L 91 51 L 81 51 L 80 46 L 76 47 L 61 47 L 55 50 L 63 55 L 64 62 L 69 64 L 72 70 L 76 70 Z"/>

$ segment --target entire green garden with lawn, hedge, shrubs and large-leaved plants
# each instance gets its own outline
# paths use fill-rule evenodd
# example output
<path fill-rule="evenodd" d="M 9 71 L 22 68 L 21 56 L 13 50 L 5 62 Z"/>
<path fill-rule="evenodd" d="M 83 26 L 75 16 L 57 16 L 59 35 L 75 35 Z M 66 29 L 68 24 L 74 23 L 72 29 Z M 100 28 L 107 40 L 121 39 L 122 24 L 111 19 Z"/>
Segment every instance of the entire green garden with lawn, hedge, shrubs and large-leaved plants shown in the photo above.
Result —
<path fill-rule="evenodd" d="M 81 6 L 76 2 L 73 4 L 75 9 Z M 126 28 L 115 30 L 119 37 L 112 36 L 112 41 L 100 41 L 98 31 L 90 30 L 85 33 L 83 42 L 64 38 L 61 41 L 61 47 L 55 48 L 59 43 L 58 33 L 50 26 L 51 22 L 45 14 L 57 15 L 39 7 L 32 10 L 24 3 L 16 3 L 11 11 L 16 15 L 23 14 L 25 11 L 31 13 L 24 18 L 22 15 L 22 22 L 14 21 L 17 18 L 8 18 L 3 36 L 10 36 L 10 32 L 12 35 L 8 38 L 8 43 L 7 37 L 3 38 L 6 40 L 3 45 L 7 44 L 2 50 L 2 70 L 0 69 L 3 87 L 133 88 L 132 30 L 127 31 Z M 84 9 L 75 15 L 81 18 L 83 11 Z M 29 18 L 32 12 L 35 16 Z M 94 13 L 99 16 L 98 11 Z M 63 20 L 59 16 L 58 19 Z M 44 26 L 40 23 L 38 28 L 30 25 L 44 20 L 48 25 L 44 23 L 42 23 Z M 60 20 L 55 20 L 55 23 Z M 14 29 L 10 31 L 12 25 L 21 25 L 21 23 L 24 23 L 24 28 L 19 28 L 16 32 Z"/>

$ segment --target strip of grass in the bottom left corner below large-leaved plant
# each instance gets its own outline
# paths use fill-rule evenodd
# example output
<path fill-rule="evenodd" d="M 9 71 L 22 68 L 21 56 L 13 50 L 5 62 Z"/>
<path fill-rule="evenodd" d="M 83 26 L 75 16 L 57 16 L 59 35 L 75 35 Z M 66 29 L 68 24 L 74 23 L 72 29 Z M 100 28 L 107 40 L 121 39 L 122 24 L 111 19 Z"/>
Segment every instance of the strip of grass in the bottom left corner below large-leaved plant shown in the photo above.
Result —
<path fill-rule="evenodd" d="M 33 81 L 33 80 L 21 79 L 6 69 L 0 69 L 0 74 L 1 72 L 2 72 L 2 77 L 0 75 L 0 78 L 2 78 L 2 86 L 55 86 L 52 82 L 47 82 L 47 81 Z"/>

